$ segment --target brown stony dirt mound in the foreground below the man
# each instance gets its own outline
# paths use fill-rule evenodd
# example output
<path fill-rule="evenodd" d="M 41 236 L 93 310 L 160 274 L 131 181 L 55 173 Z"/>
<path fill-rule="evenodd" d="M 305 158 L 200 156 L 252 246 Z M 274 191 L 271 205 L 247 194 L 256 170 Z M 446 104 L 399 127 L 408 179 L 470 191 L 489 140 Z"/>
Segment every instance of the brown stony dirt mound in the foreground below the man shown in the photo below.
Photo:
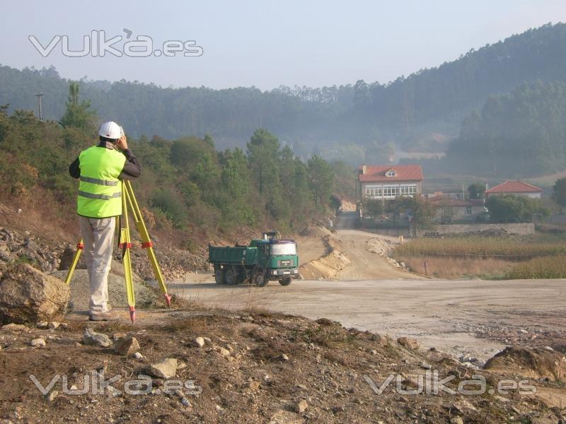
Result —
<path fill-rule="evenodd" d="M 86 327 L 109 344 L 91 346 Z M 136 338 L 134 354 L 112 346 L 124 336 Z M 40 347 L 31 346 L 38 339 Z M 548 379 L 529 382 L 541 393 L 552 391 L 551 398 L 524 396 L 507 390 L 509 384 L 500 393 L 497 382 L 509 375 L 325 318 L 192 307 L 145 312 L 132 326 L 88 324 L 71 315 L 57 329 L 3 327 L 0 347 L 0 380 L 9 382 L 0 387 L 6 423 L 61 423 L 62 417 L 88 423 L 366 423 L 369 417 L 376 423 L 522 423 L 536 417 L 550 424 L 565 412 L 548 408 L 565 392 L 553 370 L 544 374 Z M 434 394 L 425 382 L 433 372 L 453 392 Z M 55 375 L 67 381 L 56 379 L 43 395 L 30 375 L 43 387 Z M 480 378 L 487 382 L 482 396 L 458 393 L 464 380 L 481 388 Z M 97 384 L 108 380 L 110 387 Z"/>

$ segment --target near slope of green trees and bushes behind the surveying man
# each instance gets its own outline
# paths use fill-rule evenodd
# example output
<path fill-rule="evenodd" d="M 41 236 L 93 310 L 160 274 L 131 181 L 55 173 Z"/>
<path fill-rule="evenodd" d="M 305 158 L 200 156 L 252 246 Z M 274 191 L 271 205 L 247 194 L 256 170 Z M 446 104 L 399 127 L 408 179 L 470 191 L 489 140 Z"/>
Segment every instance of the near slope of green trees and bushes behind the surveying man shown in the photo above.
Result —
<path fill-rule="evenodd" d="M 69 88 L 60 123 L 40 122 L 32 112 L 0 109 L 0 202 L 32 205 L 45 220 L 74 226 L 78 183 L 69 164 L 97 143 L 88 101 Z M 250 230 L 296 232 L 330 213 L 331 195 L 352 189 L 350 168 L 313 155 L 303 161 L 266 129 L 253 131 L 245 150 L 216 149 L 211 136 L 174 140 L 130 137 L 141 161 L 134 189 L 149 222 L 176 244 Z M 353 172 L 352 172 L 353 174 Z M 335 180 L 342 181 L 335 185 Z M 37 202 L 37 199 L 41 201 Z"/>

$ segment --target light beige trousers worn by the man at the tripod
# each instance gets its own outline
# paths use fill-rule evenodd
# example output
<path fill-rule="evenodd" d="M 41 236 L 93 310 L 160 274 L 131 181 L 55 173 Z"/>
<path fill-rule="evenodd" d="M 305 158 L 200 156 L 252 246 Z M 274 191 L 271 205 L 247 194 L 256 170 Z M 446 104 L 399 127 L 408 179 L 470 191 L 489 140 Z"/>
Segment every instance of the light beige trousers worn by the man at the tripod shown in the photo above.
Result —
<path fill-rule="evenodd" d="M 116 218 L 79 216 L 84 243 L 84 261 L 91 284 L 91 312 L 108 312 L 108 272 L 112 264 L 112 242 Z"/>

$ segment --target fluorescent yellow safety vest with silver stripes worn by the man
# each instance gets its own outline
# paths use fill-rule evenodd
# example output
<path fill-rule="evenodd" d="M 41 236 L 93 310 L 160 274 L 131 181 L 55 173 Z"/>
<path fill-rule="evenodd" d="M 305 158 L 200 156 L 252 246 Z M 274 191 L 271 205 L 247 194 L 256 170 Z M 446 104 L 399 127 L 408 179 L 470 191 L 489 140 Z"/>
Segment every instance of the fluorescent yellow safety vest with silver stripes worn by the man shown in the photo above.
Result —
<path fill-rule="evenodd" d="M 76 211 L 88 218 L 122 214 L 122 182 L 118 179 L 126 157 L 119 151 L 93 146 L 79 155 L 81 183 Z"/>

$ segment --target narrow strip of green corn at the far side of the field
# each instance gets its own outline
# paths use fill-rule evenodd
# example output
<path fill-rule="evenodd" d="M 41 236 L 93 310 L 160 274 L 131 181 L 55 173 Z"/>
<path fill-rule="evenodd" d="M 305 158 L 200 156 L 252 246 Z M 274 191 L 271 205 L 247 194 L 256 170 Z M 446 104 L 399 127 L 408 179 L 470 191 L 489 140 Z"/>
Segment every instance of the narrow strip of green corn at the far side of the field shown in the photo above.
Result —
<path fill-rule="evenodd" d="M 564 242 L 525 242 L 509 238 L 450 237 L 417 239 L 395 249 L 395 257 L 408 256 L 499 258 L 509 261 L 536 257 L 566 257 Z"/>

